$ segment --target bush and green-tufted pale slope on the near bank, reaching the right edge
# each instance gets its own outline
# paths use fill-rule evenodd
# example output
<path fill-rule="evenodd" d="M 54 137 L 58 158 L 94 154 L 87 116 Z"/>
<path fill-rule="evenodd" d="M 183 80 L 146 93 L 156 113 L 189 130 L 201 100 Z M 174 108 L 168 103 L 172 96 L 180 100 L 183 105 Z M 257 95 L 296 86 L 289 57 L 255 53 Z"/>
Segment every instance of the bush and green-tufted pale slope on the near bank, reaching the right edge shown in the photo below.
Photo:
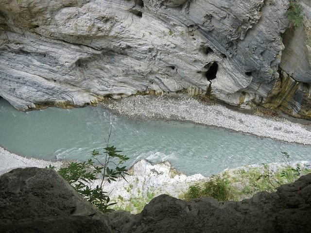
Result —
<path fill-rule="evenodd" d="M 201 197 L 213 197 L 220 201 L 243 200 L 260 191 L 275 192 L 282 184 L 293 183 L 300 176 L 311 173 L 309 165 L 290 162 L 290 155 L 282 153 L 283 165 L 245 166 L 232 172 L 225 171 L 205 183 L 191 185 L 181 198 L 190 201 Z"/>

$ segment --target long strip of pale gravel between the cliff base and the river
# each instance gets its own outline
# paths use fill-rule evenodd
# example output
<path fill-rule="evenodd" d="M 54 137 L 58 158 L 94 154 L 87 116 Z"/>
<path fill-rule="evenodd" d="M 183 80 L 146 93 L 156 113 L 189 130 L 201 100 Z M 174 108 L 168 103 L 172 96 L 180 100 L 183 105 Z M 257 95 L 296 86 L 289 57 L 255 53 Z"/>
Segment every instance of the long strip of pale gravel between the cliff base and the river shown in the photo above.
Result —
<path fill-rule="evenodd" d="M 206 104 L 184 94 L 138 95 L 122 100 L 106 101 L 103 105 L 117 114 L 129 117 L 187 121 L 260 137 L 311 145 L 311 132 L 302 124 L 293 123 L 285 118 L 266 118 L 245 114 L 220 104 Z"/>

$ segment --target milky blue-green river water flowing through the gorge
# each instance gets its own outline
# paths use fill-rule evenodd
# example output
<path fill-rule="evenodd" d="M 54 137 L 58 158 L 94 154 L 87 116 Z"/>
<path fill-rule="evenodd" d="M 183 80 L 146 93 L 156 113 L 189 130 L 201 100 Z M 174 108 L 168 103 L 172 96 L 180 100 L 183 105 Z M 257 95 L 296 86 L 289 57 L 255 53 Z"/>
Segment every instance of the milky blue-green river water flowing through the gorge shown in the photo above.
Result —
<path fill-rule="evenodd" d="M 86 160 L 91 150 L 104 147 L 111 125 L 113 145 L 130 157 L 128 165 L 141 158 L 168 160 L 179 171 L 207 176 L 225 168 L 280 162 L 280 151 L 288 152 L 292 161 L 311 160 L 311 146 L 225 129 L 133 120 L 103 106 L 24 113 L 0 99 L 0 145 L 25 157 Z"/>

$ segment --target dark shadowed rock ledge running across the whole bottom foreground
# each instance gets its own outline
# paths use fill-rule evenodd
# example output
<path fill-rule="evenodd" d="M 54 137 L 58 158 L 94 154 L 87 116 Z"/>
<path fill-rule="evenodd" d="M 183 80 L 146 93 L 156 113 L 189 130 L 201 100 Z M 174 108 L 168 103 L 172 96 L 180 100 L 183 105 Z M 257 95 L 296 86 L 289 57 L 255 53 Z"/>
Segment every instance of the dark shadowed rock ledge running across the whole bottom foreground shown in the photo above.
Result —
<path fill-rule="evenodd" d="M 138 215 L 101 214 L 50 169 L 12 170 L 0 187 L 1 233 L 311 232 L 311 174 L 241 202 L 161 195 Z"/>

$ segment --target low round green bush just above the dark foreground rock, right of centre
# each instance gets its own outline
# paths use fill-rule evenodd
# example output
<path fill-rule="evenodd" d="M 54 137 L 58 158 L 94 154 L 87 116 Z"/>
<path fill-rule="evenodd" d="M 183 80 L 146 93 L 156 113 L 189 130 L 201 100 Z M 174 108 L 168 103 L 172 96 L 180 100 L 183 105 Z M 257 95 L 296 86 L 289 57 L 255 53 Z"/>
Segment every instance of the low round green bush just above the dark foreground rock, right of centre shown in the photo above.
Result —
<path fill-rule="evenodd" d="M 231 200 L 233 198 L 232 188 L 226 179 L 220 176 L 212 176 L 209 181 L 201 185 L 198 183 L 191 185 L 182 196 L 186 201 L 202 197 L 212 197 L 220 201 Z"/>

